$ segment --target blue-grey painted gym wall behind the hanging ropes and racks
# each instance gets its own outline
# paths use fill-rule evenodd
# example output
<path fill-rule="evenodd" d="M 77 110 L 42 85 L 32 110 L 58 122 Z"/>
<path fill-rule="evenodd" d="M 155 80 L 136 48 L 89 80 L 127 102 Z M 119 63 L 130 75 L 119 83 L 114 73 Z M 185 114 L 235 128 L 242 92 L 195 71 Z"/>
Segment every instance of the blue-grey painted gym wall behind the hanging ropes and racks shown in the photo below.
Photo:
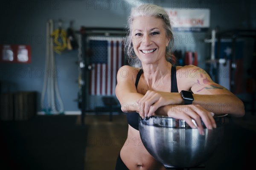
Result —
<path fill-rule="evenodd" d="M 0 2 L 0 44 L 29 44 L 32 47 L 30 64 L 0 63 L 0 81 L 2 91 L 38 91 L 40 101 L 43 88 L 46 50 L 46 22 L 49 19 L 63 20 L 63 28 L 68 28 L 70 20 L 74 20 L 73 28 L 117 27 L 126 25 L 130 8 L 139 7 L 143 2 L 153 2 L 168 8 L 210 8 L 210 26 L 219 26 L 221 30 L 231 28 L 256 28 L 256 3 L 253 0 L 5 0 Z M 55 22 L 55 28 L 57 28 Z M 185 37 L 198 34 L 207 37 L 207 33 L 176 33 Z M 207 44 L 175 42 L 176 49 L 198 51 L 200 65 L 204 68 L 204 60 L 209 57 Z M 79 111 L 77 103 L 78 65 L 77 51 L 55 54 L 58 69 L 58 85 L 64 101 L 65 111 Z M 208 56 L 207 56 L 208 55 Z M 24 71 L 26 75 L 24 76 Z M 39 72 L 38 72 L 39 71 Z"/>

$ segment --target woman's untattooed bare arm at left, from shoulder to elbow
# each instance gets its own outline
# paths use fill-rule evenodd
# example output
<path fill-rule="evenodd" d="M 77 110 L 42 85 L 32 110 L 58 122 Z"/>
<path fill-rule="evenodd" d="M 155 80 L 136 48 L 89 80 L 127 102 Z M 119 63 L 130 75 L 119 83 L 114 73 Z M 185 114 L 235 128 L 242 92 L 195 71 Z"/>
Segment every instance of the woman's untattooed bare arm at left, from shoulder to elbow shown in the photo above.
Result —
<path fill-rule="evenodd" d="M 135 80 L 138 70 L 136 68 L 124 65 L 117 72 L 116 97 L 121 104 L 123 112 L 140 112 L 142 105 L 136 101 L 144 95 L 137 93 Z M 144 117 L 144 115 L 141 115 Z"/>

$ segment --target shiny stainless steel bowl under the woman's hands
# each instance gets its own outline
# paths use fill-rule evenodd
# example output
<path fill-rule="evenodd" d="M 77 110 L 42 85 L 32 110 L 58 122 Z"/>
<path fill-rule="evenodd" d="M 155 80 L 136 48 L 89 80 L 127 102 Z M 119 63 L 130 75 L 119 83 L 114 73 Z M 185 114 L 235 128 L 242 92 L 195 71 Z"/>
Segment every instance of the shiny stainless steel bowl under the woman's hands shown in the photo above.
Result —
<path fill-rule="evenodd" d="M 217 128 L 205 127 L 205 135 L 192 129 L 184 120 L 164 116 L 139 116 L 140 137 L 148 152 L 166 169 L 189 168 L 204 163 L 221 143 L 225 116 L 215 116 Z"/>

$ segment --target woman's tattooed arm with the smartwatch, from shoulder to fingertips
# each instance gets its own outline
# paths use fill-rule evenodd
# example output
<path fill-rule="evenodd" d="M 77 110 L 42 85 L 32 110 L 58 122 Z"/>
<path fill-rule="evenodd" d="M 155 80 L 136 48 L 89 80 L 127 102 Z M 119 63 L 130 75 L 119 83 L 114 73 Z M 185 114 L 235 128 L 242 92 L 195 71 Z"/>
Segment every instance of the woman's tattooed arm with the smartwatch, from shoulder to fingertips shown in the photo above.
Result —
<path fill-rule="evenodd" d="M 243 102 L 226 88 L 213 82 L 203 69 L 194 65 L 180 67 L 176 76 L 180 79 L 178 87 L 180 90 L 191 90 L 194 93 L 192 104 L 200 105 L 215 114 L 244 115 Z M 166 105 L 183 105 L 183 99 L 179 93 L 160 91 L 148 91 L 137 102 L 143 106 L 145 116 L 153 115 L 158 108 Z"/>

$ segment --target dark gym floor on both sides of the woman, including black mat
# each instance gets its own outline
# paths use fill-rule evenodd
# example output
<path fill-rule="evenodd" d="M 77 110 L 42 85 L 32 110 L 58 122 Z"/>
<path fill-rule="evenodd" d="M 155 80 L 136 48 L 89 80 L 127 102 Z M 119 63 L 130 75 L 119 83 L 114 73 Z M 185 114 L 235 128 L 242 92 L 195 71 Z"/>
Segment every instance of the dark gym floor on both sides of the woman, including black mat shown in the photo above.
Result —
<path fill-rule="evenodd" d="M 125 114 L 113 115 L 113 122 L 108 115 L 87 115 L 84 126 L 80 119 L 48 115 L 0 121 L 0 170 L 113 170 L 127 136 Z M 254 170 L 256 115 L 226 121 L 223 142 L 203 169 Z"/>

